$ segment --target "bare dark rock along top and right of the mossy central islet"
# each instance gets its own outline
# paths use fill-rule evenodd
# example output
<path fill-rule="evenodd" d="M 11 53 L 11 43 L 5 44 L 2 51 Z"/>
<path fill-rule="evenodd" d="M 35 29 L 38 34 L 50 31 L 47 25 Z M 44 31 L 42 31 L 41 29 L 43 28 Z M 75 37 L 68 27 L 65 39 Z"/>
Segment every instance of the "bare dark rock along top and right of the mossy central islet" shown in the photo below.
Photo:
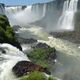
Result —
<path fill-rule="evenodd" d="M 37 45 L 34 45 L 32 47 L 34 50 L 35 49 L 44 49 L 45 50 L 45 53 L 48 53 L 46 54 L 47 55 L 47 59 L 49 60 L 55 60 L 57 58 L 57 55 L 56 55 L 56 49 L 53 47 L 51 48 L 49 45 L 47 45 L 46 43 L 38 43 Z"/>

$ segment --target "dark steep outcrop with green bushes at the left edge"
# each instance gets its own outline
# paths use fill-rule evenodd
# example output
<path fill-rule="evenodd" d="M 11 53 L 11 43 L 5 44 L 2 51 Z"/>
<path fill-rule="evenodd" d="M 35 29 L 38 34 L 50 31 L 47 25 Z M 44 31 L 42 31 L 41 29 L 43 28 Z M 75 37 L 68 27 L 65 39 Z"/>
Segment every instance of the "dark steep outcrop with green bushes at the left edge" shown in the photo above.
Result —
<path fill-rule="evenodd" d="M 0 15 L 0 43 L 9 43 L 22 50 L 20 43 L 15 37 L 15 33 L 5 15 Z"/>

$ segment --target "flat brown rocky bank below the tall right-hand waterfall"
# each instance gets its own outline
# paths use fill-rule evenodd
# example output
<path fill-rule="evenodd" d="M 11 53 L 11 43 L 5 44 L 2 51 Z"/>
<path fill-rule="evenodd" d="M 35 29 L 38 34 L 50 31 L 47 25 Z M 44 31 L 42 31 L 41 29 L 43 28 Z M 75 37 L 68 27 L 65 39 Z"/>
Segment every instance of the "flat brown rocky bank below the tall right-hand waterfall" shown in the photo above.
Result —
<path fill-rule="evenodd" d="M 61 38 L 76 44 L 80 44 L 80 32 L 78 31 L 50 32 L 50 35 L 56 38 Z"/>

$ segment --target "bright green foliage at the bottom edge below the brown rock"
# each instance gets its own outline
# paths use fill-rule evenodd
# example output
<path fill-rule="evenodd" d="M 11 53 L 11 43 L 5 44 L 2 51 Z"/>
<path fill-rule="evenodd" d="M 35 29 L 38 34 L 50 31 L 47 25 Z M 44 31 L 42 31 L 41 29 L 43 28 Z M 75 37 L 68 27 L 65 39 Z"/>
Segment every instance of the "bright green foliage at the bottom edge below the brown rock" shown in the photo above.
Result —
<path fill-rule="evenodd" d="M 47 78 L 43 73 L 41 72 L 32 72 L 28 76 L 23 76 L 20 80 L 56 80 L 52 77 Z"/>

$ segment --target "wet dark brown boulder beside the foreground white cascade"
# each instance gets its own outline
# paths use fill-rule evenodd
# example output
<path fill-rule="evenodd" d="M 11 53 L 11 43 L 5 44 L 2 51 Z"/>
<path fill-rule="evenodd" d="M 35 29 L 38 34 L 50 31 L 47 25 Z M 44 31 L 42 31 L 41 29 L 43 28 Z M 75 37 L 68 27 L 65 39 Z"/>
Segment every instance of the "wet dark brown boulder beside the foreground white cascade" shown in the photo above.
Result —
<path fill-rule="evenodd" d="M 51 74 L 47 68 L 43 68 L 40 65 L 34 64 L 30 61 L 20 61 L 18 62 L 12 69 L 14 74 L 17 77 L 21 77 L 23 75 L 27 75 L 29 72 L 33 71 L 40 71 L 40 72 L 45 72 L 47 74 Z"/>

